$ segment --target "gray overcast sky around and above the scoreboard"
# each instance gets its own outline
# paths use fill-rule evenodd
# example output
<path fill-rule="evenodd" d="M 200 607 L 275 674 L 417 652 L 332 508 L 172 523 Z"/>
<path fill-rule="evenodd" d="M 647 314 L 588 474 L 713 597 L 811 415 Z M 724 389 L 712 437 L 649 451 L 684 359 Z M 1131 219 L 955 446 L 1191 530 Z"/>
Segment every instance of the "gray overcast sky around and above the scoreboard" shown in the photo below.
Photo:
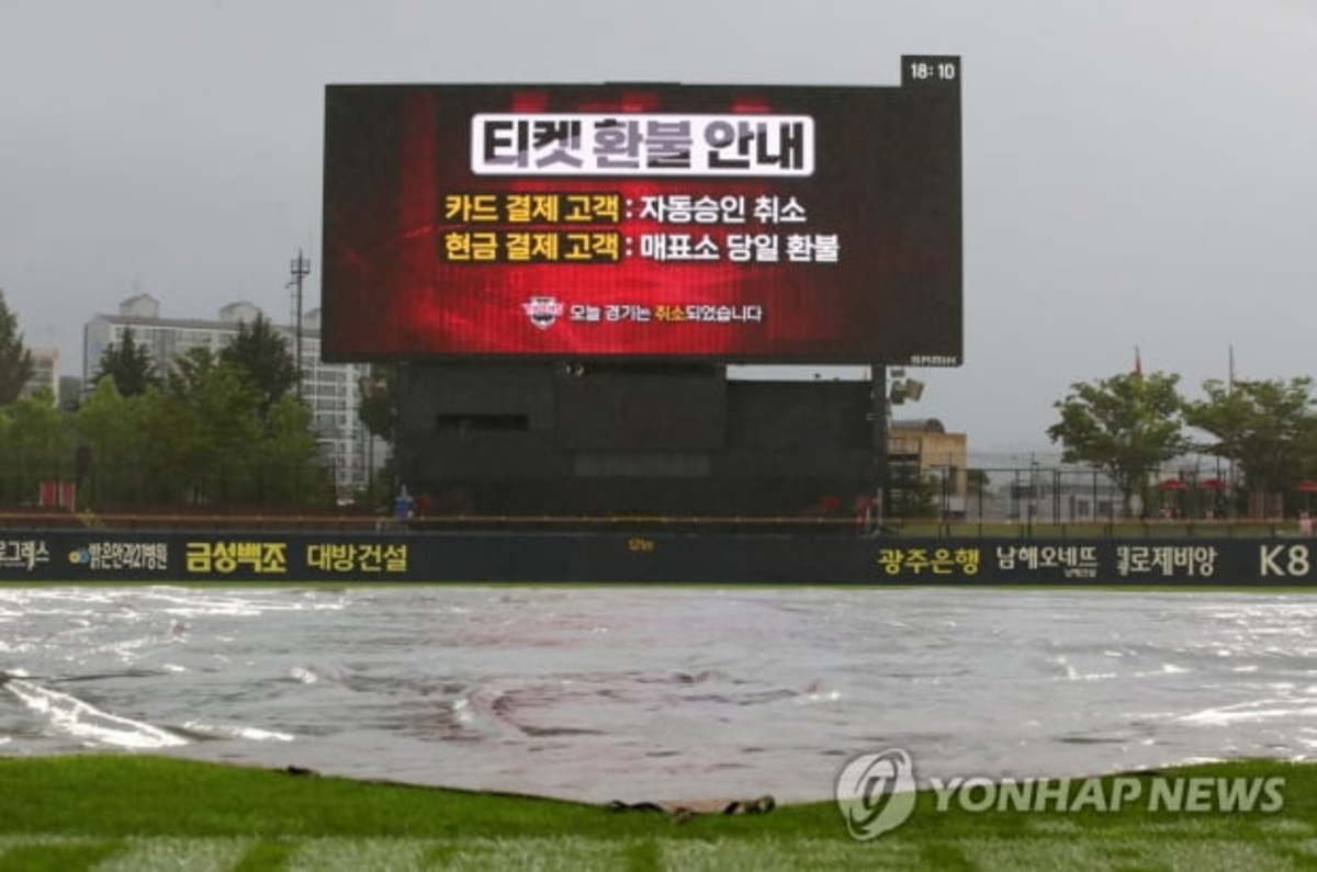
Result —
<path fill-rule="evenodd" d="M 897 84 L 963 57 L 971 449 L 1046 447 L 1069 382 L 1313 373 L 1317 1 L 151 0 L 0 5 L 0 287 L 80 371 L 136 291 L 286 320 L 328 82 Z"/>

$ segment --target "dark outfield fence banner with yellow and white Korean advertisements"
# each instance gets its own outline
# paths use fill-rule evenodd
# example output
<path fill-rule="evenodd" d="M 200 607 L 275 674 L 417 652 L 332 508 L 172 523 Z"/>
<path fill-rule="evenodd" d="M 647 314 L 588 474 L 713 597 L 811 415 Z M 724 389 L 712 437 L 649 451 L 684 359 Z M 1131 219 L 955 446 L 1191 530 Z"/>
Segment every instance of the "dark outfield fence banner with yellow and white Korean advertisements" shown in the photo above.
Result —
<path fill-rule="evenodd" d="M 1308 585 L 1270 539 L 867 540 L 768 535 L 0 531 L 0 582 L 414 581 Z"/>

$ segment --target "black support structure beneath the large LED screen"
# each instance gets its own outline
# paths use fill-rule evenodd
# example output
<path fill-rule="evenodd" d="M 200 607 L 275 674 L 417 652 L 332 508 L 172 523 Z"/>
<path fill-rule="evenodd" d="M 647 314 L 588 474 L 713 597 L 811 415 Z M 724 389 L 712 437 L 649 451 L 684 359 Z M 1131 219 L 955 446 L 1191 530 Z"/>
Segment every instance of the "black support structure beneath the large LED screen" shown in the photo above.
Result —
<path fill-rule="evenodd" d="M 403 373 L 399 473 L 439 515 L 849 519 L 872 515 L 884 476 L 881 368 L 877 382 L 672 364 Z"/>

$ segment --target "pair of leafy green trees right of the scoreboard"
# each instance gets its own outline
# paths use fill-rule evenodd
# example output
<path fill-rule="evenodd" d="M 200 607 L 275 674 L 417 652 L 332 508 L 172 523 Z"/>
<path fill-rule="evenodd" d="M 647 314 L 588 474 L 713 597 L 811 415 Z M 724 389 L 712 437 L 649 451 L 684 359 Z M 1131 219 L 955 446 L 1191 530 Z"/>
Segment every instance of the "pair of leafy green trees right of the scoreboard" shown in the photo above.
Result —
<path fill-rule="evenodd" d="M 1152 477 L 1189 453 L 1221 458 L 1237 478 L 1223 498 L 1243 514 L 1250 494 L 1268 494 L 1295 512 L 1306 506 L 1300 483 L 1317 479 L 1317 399 L 1313 379 L 1204 382 L 1204 398 L 1185 399 L 1173 373 L 1122 373 L 1071 385 L 1056 400 L 1060 420 L 1047 429 L 1065 462 L 1102 469 L 1133 511 L 1150 503 Z"/>

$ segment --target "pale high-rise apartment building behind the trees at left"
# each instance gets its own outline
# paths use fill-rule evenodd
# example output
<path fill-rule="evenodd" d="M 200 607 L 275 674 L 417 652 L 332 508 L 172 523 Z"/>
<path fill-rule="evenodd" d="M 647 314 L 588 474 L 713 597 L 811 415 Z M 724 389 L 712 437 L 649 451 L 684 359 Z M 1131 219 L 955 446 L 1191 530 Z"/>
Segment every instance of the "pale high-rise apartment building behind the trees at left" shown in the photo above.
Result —
<path fill-rule="evenodd" d="M 174 365 L 192 348 L 219 352 L 238 333 L 238 325 L 252 323 L 261 310 L 252 303 L 229 303 L 216 320 L 169 319 L 159 316 L 159 302 L 149 294 L 130 296 L 119 304 L 117 315 L 96 315 L 83 328 L 83 383 L 94 387 L 105 348 L 119 344 L 124 331 L 132 329 L 133 341 L 145 345 L 161 369 Z M 274 324 L 294 352 L 295 332 L 291 325 Z M 333 465 L 340 495 L 365 487 L 371 466 L 378 469 L 386 457 L 385 444 L 370 436 L 357 418 L 361 379 L 369 375 L 369 364 L 325 364 L 320 360 L 320 310 L 302 319 L 302 395 L 313 415 L 316 439 L 328 462 Z"/>

